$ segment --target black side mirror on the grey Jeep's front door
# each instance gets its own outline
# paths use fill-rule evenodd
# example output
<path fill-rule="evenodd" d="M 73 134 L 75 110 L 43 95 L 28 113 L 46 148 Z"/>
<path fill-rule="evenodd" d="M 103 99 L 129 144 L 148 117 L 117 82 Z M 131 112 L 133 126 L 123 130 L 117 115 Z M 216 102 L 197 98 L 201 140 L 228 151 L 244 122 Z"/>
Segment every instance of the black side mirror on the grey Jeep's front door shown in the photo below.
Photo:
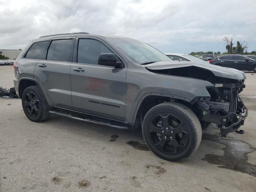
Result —
<path fill-rule="evenodd" d="M 98 56 L 98 64 L 112 67 L 120 67 L 121 62 L 116 61 L 114 53 L 101 53 Z"/>

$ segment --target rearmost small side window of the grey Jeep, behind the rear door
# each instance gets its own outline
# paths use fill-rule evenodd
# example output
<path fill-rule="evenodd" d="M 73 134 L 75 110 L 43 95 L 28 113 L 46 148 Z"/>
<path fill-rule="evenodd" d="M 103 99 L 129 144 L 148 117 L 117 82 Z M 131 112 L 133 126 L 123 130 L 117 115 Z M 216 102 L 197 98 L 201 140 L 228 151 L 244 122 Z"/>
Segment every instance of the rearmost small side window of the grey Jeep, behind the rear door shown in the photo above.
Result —
<path fill-rule="evenodd" d="M 38 42 L 33 44 L 28 50 L 25 58 L 26 59 L 41 59 L 44 49 L 48 41 Z"/>

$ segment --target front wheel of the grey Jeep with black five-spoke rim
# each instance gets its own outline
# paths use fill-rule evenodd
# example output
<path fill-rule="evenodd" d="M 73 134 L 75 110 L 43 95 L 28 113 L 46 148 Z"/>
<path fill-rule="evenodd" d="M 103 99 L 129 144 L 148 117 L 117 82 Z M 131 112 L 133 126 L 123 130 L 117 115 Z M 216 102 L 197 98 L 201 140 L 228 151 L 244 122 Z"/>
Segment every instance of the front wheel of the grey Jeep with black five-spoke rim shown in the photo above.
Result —
<path fill-rule="evenodd" d="M 158 104 L 147 112 L 142 134 L 154 154 L 168 161 L 178 161 L 196 151 L 202 139 L 202 128 L 192 110 L 170 102 Z"/>

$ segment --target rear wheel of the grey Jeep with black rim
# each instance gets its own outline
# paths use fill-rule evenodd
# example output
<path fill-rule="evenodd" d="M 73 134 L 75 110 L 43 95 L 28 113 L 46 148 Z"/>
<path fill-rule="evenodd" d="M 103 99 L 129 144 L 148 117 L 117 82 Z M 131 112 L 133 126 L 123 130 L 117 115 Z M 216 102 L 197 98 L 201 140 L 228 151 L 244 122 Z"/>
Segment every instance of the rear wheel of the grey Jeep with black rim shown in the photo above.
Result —
<path fill-rule="evenodd" d="M 22 108 L 31 121 L 41 122 L 50 118 L 49 106 L 38 86 L 29 86 L 24 90 Z"/>

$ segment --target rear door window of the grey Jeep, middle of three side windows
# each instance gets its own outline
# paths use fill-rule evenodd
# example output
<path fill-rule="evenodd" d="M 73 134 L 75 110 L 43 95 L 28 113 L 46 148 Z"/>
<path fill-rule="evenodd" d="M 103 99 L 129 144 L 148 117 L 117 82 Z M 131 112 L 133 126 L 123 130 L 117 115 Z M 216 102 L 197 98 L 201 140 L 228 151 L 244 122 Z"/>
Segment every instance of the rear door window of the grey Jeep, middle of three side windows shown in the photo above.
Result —
<path fill-rule="evenodd" d="M 48 48 L 46 60 L 69 61 L 72 39 L 53 40 Z"/>

